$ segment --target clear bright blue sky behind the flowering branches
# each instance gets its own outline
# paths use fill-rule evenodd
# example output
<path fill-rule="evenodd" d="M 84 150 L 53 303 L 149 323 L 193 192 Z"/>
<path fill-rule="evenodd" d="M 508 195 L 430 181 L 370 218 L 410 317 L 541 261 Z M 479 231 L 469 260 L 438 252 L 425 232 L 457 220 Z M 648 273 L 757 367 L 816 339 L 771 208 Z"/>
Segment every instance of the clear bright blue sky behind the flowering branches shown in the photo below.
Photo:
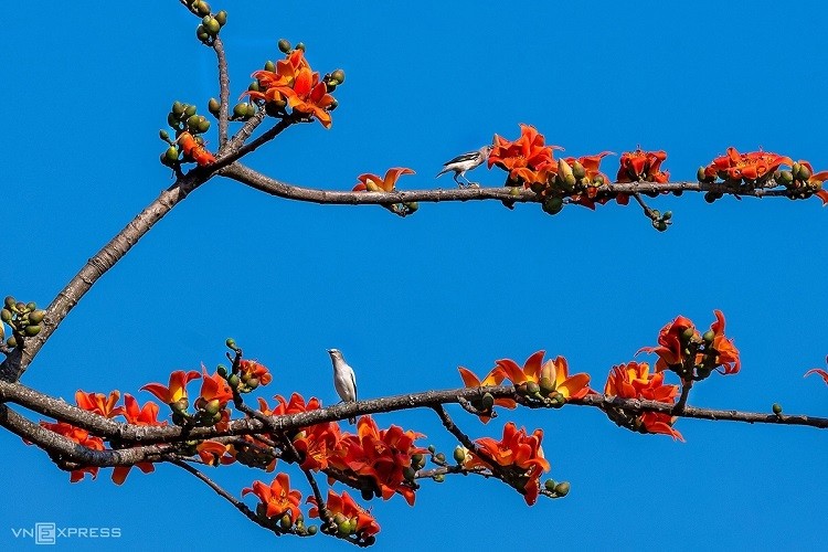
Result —
<path fill-rule="evenodd" d="M 176 1 L 26 8 L 7 9 L 3 25 L 0 294 L 45 305 L 171 183 L 157 132 L 172 100 L 206 112 L 217 91 L 214 55 Z M 566 156 L 665 149 L 673 180 L 693 179 L 728 146 L 828 169 L 819 2 L 213 8 L 230 12 L 222 36 L 234 97 L 278 57 L 282 36 L 304 41 L 316 70 L 347 73 L 330 131 L 293 128 L 245 159 L 288 182 L 348 190 L 362 172 L 404 166 L 417 174 L 401 189 L 450 187 L 449 177 L 433 179 L 443 161 L 496 132 L 514 138 L 520 123 Z M 522 362 L 539 349 L 602 388 L 611 367 L 655 344 L 667 321 L 681 314 L 705 328 L 719 308 L 742 371 L 710 378 L 690 403 L 769 412 L 779 402 L 825 416 L 828 388 L 802 375 L 828 353 L 828 212 L 816 199 L 709 205 L 684 194 L 651 204 L 673 211 L 668 232 L 635 205 L 550 217 L 538 205 L 424 204 L 401 220 L 215 179 L 99 280 L 23 382 L 67 400 L 77 389 L 136 393 L 171 370 L 214 368 L 233 336 L 273 370 L 268 397 L 299 391 L 335 402 L 331 347 L 355 367 L 364 397 L 457 386 L 457 365 L 485 373 L 496 359 Z M 455 414 L 473 437 L 500 434 L 502 422 L 484 427 Z M 825 548 L 825 432 L 680 421 L 680 444 L 625 432 L 594 410 L 507 417 L 544 429 L 550 476 L 571 481 L 570 496 L 527 508 L 497 482 L 426 482 L 413 509 L 399 497 L 371 505 L 382 526 L 376 550 Z M 428 412 L 379 421 L 454 447 Z M 71 485 L 42 452 L 4 433 L 0 444 L 6 548 L 33 548 L 11 529 L 39 521 L 121 529 L 117 542 L 61 543 L 77 550 L 347 546 L 321 535 L 274 541 L 174 467 L 130 474 L 123 487 L 108 473 Z M 267 479 L 240 467 L 211 475 L 232 492 Z"/>

